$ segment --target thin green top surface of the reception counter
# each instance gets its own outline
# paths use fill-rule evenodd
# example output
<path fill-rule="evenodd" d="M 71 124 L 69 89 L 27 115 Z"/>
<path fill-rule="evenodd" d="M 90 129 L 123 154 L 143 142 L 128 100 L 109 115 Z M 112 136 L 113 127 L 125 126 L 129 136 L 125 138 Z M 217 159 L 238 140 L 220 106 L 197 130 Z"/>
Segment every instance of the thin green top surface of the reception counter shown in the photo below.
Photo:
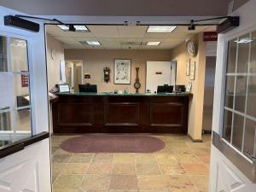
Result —
<path fill-rule="evenodd" d="M 127 94 L 114 94 L 108 92 L 102 93 L 84 93 L 84 92 L 71 92 L 71 93 L 56 93 L 57 96 L 189 96 L 190 93 L 127 93 Z"/>

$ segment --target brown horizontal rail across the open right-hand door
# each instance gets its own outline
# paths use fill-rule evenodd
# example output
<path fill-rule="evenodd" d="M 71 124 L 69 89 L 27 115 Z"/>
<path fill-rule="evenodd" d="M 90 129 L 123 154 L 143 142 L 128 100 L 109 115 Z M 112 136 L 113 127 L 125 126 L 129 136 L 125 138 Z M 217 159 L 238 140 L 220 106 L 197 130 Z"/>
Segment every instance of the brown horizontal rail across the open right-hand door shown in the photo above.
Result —
<path fill-rule="evenodd" d="M 217 132 L 212 131 L 212 144 L 224 154 L 224 156 L 234 164 L 250 181 L 256 183 L 256 163 L 249 162 L 245 157 L 239 154 L 228 143 L 224 142 Z"/>

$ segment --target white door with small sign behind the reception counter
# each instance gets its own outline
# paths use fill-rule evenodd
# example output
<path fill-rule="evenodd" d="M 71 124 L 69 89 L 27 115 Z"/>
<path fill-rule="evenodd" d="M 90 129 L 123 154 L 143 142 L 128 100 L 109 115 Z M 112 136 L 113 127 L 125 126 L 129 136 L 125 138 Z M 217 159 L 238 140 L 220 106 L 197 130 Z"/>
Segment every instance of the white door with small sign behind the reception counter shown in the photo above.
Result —
<path fill-rule="evenodd" d="M 171 61 L 147 61 L 146 90 L 154 92 L 158 85 L 171 83 Z"/>

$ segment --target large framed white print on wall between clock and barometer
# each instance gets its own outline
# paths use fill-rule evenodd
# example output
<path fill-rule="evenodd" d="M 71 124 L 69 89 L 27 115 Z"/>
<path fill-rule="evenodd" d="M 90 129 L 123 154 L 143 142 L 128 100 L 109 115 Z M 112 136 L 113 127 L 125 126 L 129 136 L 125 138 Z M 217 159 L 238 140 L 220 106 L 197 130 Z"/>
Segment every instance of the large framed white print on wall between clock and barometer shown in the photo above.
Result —
<path fill-rule="evenodd" d="M 131 59 L 114 60 L 114 84 L 131 84 Z"/>

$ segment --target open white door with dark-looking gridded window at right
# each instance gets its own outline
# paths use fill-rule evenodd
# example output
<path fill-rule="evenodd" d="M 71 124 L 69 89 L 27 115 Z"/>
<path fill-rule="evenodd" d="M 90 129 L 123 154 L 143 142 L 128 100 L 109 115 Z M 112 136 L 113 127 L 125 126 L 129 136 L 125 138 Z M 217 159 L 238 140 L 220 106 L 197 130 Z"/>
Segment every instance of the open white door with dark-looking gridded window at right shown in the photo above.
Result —
<path fill-rule="evenodd" d="M 255 192 L 256 1 L 232 15 L 239 27 L 218 35 L 209 192 Z"/>

